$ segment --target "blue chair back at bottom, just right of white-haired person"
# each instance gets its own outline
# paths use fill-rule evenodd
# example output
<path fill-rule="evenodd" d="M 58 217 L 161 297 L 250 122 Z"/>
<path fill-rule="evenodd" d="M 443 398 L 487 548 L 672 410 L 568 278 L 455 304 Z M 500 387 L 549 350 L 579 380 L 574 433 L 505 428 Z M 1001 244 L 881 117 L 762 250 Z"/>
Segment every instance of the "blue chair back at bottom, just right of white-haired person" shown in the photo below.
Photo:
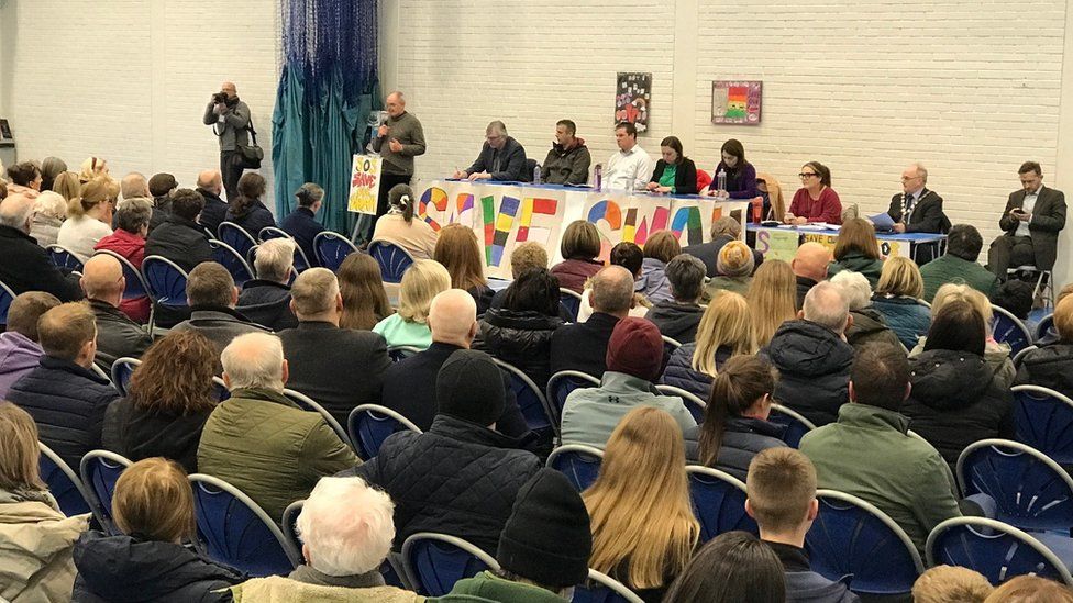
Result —
<path fill-rule="evenodd" d="M 491 556 L 472 544 L 432 532 L 419 532 L 402 543 L 402 562 L 413 590 L 425 596 L 443 596 L 458 580 L 499 569 Z"/>

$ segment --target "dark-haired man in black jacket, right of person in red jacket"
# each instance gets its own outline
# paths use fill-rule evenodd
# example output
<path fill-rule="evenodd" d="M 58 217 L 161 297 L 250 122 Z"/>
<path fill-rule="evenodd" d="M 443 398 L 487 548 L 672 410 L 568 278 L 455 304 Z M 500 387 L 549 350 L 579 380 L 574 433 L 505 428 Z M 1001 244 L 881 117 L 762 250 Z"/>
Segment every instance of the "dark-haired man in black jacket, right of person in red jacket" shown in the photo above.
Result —
<path fill-rule="evenodd" d="M 145 239 L 145 255 L 169 259 L 187 272 L 203 261 L 212 261 L 209 237 L 197 222 L 203 208 L 204 199 L 197 191 L 175 191 L 172 213 Z"/>

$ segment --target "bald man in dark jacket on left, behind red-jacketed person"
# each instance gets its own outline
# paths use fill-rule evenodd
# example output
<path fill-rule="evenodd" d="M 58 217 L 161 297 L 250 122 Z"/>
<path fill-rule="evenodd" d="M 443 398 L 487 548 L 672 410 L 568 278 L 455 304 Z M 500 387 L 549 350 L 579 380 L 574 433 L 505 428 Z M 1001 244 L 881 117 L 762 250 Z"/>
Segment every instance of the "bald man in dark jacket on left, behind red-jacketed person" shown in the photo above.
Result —
<path fill-rule="evenodd" d="M 97 361 L 111 367 L 117 358 L 141 357 L 153 339 L 119 309 L 126 288 L 119 260 L 104 254 L 89 258 L 81 286 L 97 320 Z"/>

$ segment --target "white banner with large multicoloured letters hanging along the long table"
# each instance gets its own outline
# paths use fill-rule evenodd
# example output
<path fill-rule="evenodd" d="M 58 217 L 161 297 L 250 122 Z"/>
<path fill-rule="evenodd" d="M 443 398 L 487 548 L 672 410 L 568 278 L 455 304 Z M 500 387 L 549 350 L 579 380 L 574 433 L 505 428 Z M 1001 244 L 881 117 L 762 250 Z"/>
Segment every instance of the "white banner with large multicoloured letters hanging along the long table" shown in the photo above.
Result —
<path fill-rule="evenodd" d="M 416 214 L 439 231 L 446 224 L 474 230 L 482 245 L 485 273 L 510 278 L 510 253 L 519 243 L 542 244 L 553 264 L 562 259 L 566 224 L 596 225 L 601 257 L 623 241 L 644 245 L 655 231 L 670 230 L 682 246 L 711 239 L 711 223 L 723 215 L 743 222 L 749 202 L 710 197 L 597 191 L 590 188 L 517 182 L 430 180 L 419 182 Z M 744 238 L 744 232 L 742 232 Z"/>

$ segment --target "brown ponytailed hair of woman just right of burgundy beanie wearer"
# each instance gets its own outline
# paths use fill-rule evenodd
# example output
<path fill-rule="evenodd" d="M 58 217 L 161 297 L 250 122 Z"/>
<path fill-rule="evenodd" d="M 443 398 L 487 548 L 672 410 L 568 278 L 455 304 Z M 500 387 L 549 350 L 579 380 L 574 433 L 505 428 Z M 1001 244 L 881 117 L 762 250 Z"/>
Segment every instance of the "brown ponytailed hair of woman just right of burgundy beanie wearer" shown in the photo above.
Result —
<path fill-rule="evenodd" d="M 711 395 L 700 426 L 700 461 L 715 466 L 727 421 L 742 416 L 764 394 L 775 391 L 775 372 L 759 356 L 734 356 L 711 382 Z"/>

